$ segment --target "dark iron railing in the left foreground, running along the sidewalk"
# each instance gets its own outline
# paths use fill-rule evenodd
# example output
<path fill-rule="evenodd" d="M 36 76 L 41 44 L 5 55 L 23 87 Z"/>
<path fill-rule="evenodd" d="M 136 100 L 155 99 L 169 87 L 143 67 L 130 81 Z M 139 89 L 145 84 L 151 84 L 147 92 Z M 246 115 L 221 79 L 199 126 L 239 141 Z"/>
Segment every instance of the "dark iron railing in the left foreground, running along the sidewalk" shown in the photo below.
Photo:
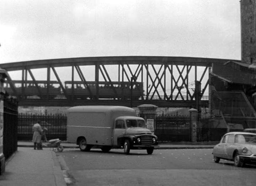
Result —
<path fill-rule="evenodd" d="M 16 100 L 4 99 L 3 152 L 8 159 L 17 151 L 18 105 Z"/>

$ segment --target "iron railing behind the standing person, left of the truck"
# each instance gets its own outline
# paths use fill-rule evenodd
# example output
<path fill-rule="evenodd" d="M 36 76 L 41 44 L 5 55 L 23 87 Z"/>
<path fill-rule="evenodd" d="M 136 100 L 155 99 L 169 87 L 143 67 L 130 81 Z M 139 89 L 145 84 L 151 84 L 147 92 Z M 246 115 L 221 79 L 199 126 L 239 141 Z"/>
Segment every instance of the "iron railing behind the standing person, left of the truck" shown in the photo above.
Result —
<path fill-rule="evenodd" d="M 47 140 L 66 140 L 66 115 L 64 114 L 18 114 L 18 140 L 32 140 L 33 125 L 41 121 L 42 129 L 47 128 Z"/>

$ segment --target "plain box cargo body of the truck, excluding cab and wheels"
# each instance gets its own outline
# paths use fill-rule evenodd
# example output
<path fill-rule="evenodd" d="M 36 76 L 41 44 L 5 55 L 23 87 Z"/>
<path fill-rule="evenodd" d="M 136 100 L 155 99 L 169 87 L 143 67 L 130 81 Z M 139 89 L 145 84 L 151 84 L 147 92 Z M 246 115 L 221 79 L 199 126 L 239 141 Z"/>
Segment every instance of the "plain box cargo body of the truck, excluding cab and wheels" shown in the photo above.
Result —
<path fill-rule="evenodd" d="M 114 120 L 119 116 L 136 116 L 135 110 L 124 106 L 77 106 L 68 109 L 67 141 L 77 143 L 85 136 L 91 145 L 112 145 Z"/>

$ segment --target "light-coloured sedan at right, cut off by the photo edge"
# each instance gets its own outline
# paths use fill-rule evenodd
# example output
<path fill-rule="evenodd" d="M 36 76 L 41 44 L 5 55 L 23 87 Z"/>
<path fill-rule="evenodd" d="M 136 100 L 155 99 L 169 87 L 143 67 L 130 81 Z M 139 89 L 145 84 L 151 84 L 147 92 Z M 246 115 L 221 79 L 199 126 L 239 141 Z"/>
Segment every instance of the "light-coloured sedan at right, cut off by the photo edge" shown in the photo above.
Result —
<path fill-rule="evenodd" d="M 246 163 L 256 164 L 256 134 L 246 132 L 226 133 L 213 148 L 214 162 L 220 159 L 234 161 L 236 167 Z"/>

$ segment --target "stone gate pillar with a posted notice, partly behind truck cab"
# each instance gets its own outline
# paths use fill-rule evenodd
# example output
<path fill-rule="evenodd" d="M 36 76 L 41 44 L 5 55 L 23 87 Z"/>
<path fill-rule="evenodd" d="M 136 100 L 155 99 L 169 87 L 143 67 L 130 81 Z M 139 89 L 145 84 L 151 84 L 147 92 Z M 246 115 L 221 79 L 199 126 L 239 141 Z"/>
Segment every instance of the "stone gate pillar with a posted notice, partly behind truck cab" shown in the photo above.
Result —
<path fill-rule="evenodd" d="M 156 109 L 158 108 L 155 105 L 143 104 L 139 105 L 139 114 L 140 117 L 145 119 L 147 128 L 154 133 L 155 131 L 155 118 L 156 118 Z"/>

